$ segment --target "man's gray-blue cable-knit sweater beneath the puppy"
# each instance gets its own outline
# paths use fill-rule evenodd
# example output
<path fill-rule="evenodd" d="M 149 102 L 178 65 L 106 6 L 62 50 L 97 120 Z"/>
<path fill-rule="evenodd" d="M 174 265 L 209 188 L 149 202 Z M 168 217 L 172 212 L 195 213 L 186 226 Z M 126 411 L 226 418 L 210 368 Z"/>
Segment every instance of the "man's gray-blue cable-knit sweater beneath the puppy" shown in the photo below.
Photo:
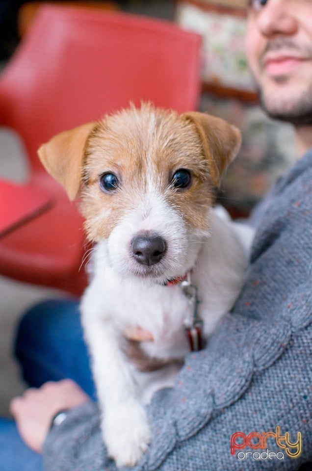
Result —
<path fill-rule="evenodd" d="M 258 221 L 234 309 L 206 349 L 186 358 L 175 388 L 154 396 L 152 444 L 135 471 L 297 470 L 312 460 L 312 149 L 279 180 Z M 291 442 L 301 433 L 299 457 L 274 435 L 264 449 L 249 446 L 277 426 Z M 231 437 L 246 446 L 232 454 Z M 96 404 L 53 428 L 44 456 L 47 471 L 116 470 Z"/>

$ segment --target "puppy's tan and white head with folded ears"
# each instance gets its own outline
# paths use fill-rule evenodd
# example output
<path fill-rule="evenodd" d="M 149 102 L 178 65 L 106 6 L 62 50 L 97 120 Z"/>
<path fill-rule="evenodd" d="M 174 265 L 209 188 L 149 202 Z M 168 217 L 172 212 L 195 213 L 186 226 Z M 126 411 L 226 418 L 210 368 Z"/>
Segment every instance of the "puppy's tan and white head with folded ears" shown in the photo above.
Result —
<path fill-rule="evenodd" d="M 39 155 L 71 198 L 81 188 L 87 236 L 105 245 L 116 272 L 163 283 L 193 266 L 213 185 L 239 145 L 222 120 L 142 105 L 62 133 Z"/>

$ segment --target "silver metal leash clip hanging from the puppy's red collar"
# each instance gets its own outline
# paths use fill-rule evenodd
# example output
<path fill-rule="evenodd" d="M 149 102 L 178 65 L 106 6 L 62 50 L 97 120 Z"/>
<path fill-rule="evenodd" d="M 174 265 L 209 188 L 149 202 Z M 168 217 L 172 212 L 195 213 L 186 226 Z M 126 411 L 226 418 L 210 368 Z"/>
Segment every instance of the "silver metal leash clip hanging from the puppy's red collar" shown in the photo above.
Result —
<path fill-rule="evenodd" d="M 181 289 L 192 305 L 191 315 L 184 320 L 184 329 L 192 352 L 203 349 L 203 320 L 198 313 L 200 303 L 197 295 L 197 287 L 191 283 L 191 273 L 187 272 L 187 279 L 181 282 Z"/>

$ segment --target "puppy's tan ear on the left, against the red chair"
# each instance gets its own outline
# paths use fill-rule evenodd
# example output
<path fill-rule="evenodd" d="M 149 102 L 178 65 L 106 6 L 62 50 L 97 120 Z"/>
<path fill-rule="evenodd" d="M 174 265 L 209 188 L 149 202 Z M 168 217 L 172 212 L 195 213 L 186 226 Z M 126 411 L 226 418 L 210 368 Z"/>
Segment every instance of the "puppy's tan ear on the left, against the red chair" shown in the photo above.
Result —
<path fill-rule="evenodd" d="M 44 167 L 65 188 L 70 200 L 78 195 L 85 144 L 95 126 L 96 122 L 87 123 L 61 132 L 38 150 Z"/>

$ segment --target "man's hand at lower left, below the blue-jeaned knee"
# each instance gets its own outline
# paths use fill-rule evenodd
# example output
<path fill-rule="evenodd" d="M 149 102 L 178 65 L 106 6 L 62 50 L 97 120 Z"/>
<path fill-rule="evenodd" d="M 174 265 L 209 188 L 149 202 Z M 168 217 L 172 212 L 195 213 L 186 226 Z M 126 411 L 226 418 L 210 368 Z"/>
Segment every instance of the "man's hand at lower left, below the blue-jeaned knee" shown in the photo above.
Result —
<path fill-rule="evenodd" d="M 74 381 L 64 379 L 45 383 L 39 389 L 27 389 L 22 396 L 12 399 L 10 412 L 26 445 L 41 453 L 54 415 L 88 400 L 87 394 Z"/>

